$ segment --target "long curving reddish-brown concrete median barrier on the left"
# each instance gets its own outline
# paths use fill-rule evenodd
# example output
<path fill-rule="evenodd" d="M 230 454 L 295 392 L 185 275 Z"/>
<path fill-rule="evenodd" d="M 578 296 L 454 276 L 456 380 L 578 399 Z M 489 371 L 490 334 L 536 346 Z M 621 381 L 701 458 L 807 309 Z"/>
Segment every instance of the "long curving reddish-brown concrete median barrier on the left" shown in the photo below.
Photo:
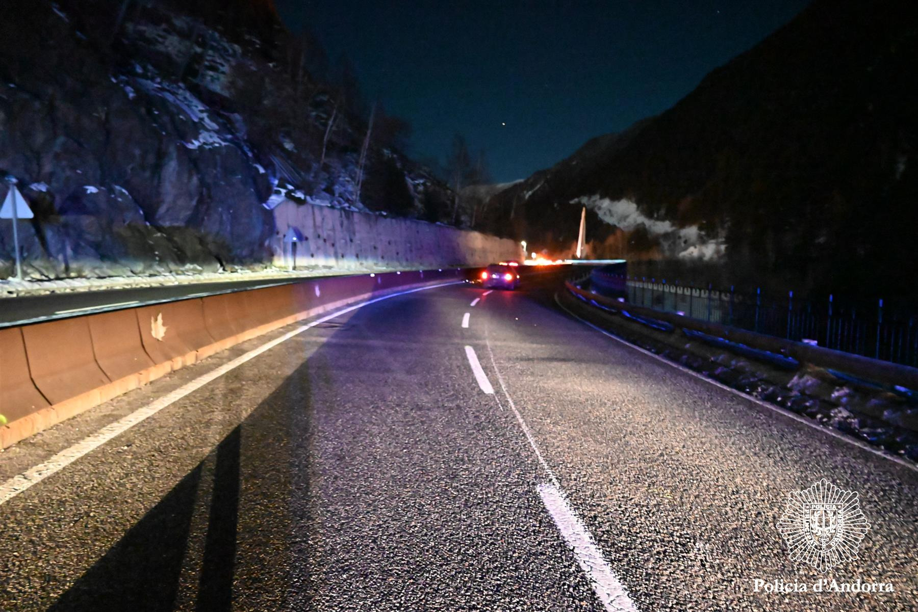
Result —
<path fill-rule="evenodd" d="M 454 267 L 333 276 L 0 329 L 0 448 L 272 329 L 463 278 Z"/>

